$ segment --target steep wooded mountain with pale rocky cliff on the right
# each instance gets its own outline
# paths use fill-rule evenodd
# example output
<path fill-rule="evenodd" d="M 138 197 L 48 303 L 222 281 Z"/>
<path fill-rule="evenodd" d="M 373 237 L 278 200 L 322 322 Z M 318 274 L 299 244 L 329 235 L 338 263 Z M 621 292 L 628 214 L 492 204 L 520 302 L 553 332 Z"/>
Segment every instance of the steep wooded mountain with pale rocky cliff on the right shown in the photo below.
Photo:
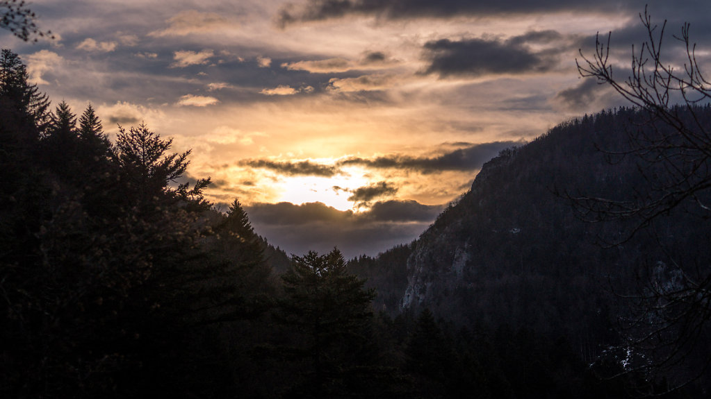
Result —
<path fill-rule="evenodd" d="M 677 112 L 711 127 L 708 106 L 692 110 Z M 390 312 L 427 307 L 461 325 L 567 337 L 593 361 L 623 339 L 638 299 L 682 275 L 707 281 L 711 274 L 711 224 L 699 212 L 710 190 L 653 217 L 631 212 L 675 190 L 667 181 L 675 170 L 658 162 L 663 157 L 692 174 L 711 173 L 707 159 L 684 158 L 671 143 L 640 153 L 669 136 L 668 126 L 638 109 L 562 123 L 485 163 L 471 190 L 412 244 L 356 259 L 353 270 L 368 276 L 381 295 L 376 305 Z"/>

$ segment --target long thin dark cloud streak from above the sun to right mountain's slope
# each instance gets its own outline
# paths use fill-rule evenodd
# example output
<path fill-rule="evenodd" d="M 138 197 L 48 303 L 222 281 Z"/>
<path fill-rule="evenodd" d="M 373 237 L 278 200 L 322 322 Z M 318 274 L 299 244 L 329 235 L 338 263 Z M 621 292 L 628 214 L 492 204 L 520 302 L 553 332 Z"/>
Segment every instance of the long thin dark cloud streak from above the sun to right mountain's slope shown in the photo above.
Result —
<path fill-rule="evenodd" d="M 407 155 L 383 156 L 373 159 L 348 158 L 341 165 L 365 165 L 370 168 L 393 168 L 437 173 L 445 170 L 476 170 L 487 160 L 495 157 L 499 151 L 510 146 L 520 145 L 516 141 L 496 141 L 460 148 L 444 155 L 432 158 L 412 157 Z"/>

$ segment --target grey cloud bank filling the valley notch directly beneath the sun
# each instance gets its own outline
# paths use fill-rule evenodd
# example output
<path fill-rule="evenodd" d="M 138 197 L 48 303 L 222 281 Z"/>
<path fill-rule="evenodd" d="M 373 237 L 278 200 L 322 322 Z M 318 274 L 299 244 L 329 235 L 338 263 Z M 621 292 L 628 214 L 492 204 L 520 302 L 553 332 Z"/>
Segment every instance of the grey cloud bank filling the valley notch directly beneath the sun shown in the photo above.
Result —
<path fill-rule="evenodd" d="M 257 234 L 287 253 L 320 253 L 338 246 L 347 258 L 375 255 L 416 239 L 437 218 L 442 205 L 415 201 L 376 202 L 360 213 L 339 211 L 321 202 L 245 207 Z"/>

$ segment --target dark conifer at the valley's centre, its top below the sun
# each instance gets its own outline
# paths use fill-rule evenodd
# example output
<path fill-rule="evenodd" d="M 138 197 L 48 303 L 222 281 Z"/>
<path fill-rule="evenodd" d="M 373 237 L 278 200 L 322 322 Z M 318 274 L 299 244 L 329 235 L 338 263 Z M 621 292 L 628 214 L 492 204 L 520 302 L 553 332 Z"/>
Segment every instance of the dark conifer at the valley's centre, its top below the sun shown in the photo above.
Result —
<path fill-rule="evenodd" d="M 374 291 L 347 273 L 337 248 L 293 256 L 282 281 L 278 318 L 295 333 L 293 346 L 282 349 L 303 363 L 292 394 L 328 398 L 364 388 Z"/>

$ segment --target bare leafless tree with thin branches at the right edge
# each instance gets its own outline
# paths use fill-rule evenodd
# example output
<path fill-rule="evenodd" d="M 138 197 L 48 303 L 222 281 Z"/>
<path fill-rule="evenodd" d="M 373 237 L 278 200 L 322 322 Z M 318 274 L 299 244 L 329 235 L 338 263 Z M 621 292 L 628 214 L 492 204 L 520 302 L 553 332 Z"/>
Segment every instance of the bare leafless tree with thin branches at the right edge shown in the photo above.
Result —
<path fill-rule="evenodd" d="M 711 82 L 697 61 L 688 23 L 680 36 L 674 36 L 685 54 L 683 68 L 676 69 L 662 52 L 666 21 L 656 26 L 647 10 L 640 18 L 648 37 L 636 52 L 633 48 L 631 76 L 619 80 L 613 75 L 610 35 L 606 41 L 598 36 L 592 57 L 581 51 L 578 70 L 582 77 L 608 84 L 646 113 L 646 126 L 629 129 L 626 148 L 614 151 L 615 156 L 636 157 L 646 188 L 625 199 L 594 195 L 571 199 L 592 221 L 629 226 L 611 244 L 624 244 L 641 231 L 652 231 L 660 246 L 665 246 L 672 239 L 664 235 L 658 222 L 667 215 L 678 220 L 693 217 L 697 224 L 706 224 L 711 217 Z M 648 265 L 643 288 L 630 295 L 638 313 L 628 323 L 625 343 L 652 356 L 651 361 L 631 364 L 626 372 L 640 371 L 646 378 L 654 378 L 679 364 L 691 364 L 693 373 L 670 381 L 670 389 L 700 378 L 711 366 L 707 356 L 711 264 L 707 259 L 680 262 L 680 258 L 670 256 L 668 266 L 661 261 Z"/>

